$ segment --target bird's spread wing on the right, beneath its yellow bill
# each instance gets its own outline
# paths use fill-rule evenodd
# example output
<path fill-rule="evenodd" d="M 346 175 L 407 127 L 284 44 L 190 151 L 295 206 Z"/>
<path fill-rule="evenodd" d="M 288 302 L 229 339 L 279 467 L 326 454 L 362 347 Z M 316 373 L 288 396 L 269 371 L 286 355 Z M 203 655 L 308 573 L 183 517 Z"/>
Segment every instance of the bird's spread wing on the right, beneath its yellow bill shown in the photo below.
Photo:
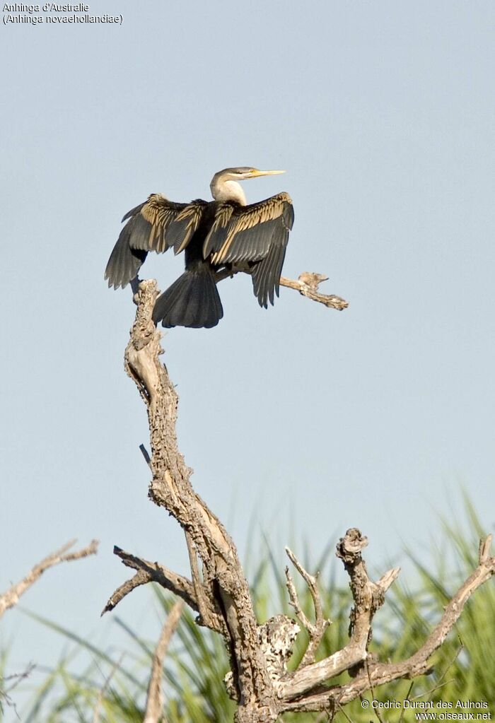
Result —
<path fill-rule="evenodd" d="M 221 204 L 206 236 L 203 257 L 210 257 L 214 265 L 249 262 L 255 296 L 266 307 L 268 300 L 274 303 L 274 293 L 279 295 L 293 222 L 292 200 L 287 193 L 248 206 Z"/>

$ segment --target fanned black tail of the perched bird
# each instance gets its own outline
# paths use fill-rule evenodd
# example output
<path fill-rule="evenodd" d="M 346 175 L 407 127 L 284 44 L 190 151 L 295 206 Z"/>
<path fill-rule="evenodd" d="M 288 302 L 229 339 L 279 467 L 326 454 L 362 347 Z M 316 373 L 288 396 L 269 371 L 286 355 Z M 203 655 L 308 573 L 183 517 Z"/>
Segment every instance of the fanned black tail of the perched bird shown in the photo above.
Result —
<path fill-rule="evenodd" d="M 156 299 L 153 321 L 170 328 L 216 326 L 224 315 L 219 292 L 208 266 L 187 270 Z"/>

